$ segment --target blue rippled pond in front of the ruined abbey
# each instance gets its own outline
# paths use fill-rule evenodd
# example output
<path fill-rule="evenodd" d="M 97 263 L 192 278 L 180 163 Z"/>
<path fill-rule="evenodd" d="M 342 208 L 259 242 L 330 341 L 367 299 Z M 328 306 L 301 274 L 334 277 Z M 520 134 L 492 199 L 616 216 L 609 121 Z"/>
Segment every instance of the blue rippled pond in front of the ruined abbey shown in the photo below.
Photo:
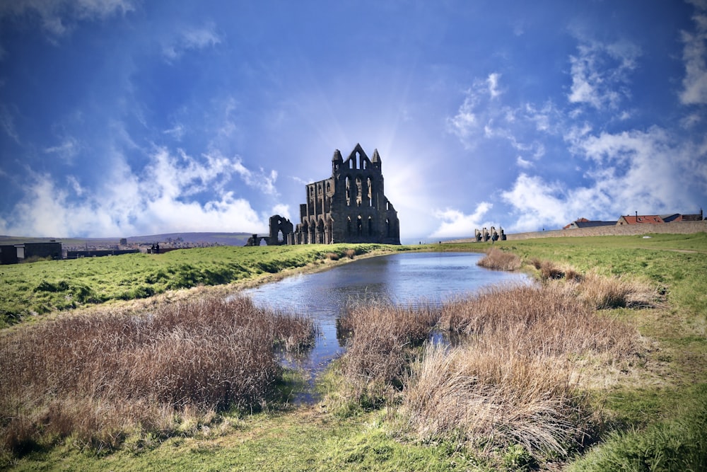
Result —
<path fill-rule="evenodd" d="M 324 272 L 300 274 L 243 290 L 257 306 L 310 316 L 320 336 L 310 352 L 284 359 L 313 377 L 344 352 L 337 339 L 337 318 L 351 299 L 394 304 L 439 304 L 493 284 L 525 283 L 524 274 L 479 267 L 480 253 L 396 253 L 355 260 Z M 296 399 L 297 400 L 297 399 Z M 310 401 L 303 393 L 298 401 Z"/>

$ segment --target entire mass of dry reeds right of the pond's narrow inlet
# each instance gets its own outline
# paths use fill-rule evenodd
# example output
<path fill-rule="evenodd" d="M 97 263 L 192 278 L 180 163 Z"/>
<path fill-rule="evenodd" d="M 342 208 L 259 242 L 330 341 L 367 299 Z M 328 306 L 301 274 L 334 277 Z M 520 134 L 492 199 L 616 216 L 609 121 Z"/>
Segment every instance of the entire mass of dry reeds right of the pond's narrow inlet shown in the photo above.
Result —
<path fill-rule="evenodd" d="M 356 306 L 341 373 L 351 400 L 402 403 L 405 430 L 453 437 L 486 451 L 522 444 L 538 459 L 564 456 L 591 429 L 576 384 L 579 362 L 620 362 L 641 350 L 636 330 L 601 316 L 565 284 L 482 290 L 440 308 Z M 428 344 L 433 328 L 464 333 Z"/>

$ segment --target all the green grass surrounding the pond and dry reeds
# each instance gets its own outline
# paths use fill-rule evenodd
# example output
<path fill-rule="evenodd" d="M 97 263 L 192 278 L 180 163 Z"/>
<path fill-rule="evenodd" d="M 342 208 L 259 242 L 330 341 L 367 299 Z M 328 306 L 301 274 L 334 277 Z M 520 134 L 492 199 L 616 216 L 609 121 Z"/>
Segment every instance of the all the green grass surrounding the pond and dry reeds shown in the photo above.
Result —
<path fill-rule="evenodd" d="M 163 255 L 123 255 L 0 268 L 0 306 L 8 325 L 62 316 L 57 310 L 149 297 L 171 289 L 216 285 L 312 264 L 346 246 L 206 248 Z M 352 246 L 349 246 L 351 248 Z M 486 251 L 490 243 L 397 249 Z M 649 284 L 662 303 L 647 309 L 609 309 L 600 316 L 635 327 L 645 350 L 638 362 L 612 375 L 587 372 L 592 406 L 601 412 L 598 442 L 557 463 L 537 464 L 522 447 L 480 454 L 455 437 L 424 441 L 397 433 L 395 406 L 342 410 L 317 405 L 266 408 L 254 414 L 224 412 L 188 434 L 160 437 L 136 430 L 117 449 L 78 444 L 71 437 L 20 457 L 4 457 L 16 470 L 276 470 L 276 471 L 578 471 L 704 470 L 707 467 L 707 234 L 498 241 L 493 247 L 519 255 L 522 270 L 533 259 L 551 260 L 582 274 L 622 277 Z M 367 246 L 359 253 L 385 248 Z M 619 280 L 619 279 L 616 279 Z M 83 295 L 86 294 L 86 295 Z M 82 298 L 83 297 L 83 298 Z M 51 317 L 30 316 L 51 313 Z M 8 330 L 8 331 L 5 331 Z M 613 367 L 612 367 L 613 369 Z M 321 388 L 332 398 L 341 383 L 329 374 Z M 609 377 L 611 381 L 609 381 Z M 1 412 L 7 422 L 12 412 Z"/>

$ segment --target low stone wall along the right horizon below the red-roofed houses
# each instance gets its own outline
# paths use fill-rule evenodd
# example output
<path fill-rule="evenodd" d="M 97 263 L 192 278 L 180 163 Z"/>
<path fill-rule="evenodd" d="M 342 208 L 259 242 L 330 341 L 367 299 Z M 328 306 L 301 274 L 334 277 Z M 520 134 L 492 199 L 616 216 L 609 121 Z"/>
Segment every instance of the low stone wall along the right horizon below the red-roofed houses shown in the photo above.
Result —
<path fill-rule="evenodd" d="M 552 229 L 528 233 L 506 234 L 508 241 L 532 238 L 563 238 L 566 236 L 639 236 L 641 234 L 707 233 L 707 220 L 672 221 L 661 224 L 624 224 L 622 226 L 595 226 L 593 228 Z M 472 243 L 474 238 L 455 239 L 445 243 Z"/>

